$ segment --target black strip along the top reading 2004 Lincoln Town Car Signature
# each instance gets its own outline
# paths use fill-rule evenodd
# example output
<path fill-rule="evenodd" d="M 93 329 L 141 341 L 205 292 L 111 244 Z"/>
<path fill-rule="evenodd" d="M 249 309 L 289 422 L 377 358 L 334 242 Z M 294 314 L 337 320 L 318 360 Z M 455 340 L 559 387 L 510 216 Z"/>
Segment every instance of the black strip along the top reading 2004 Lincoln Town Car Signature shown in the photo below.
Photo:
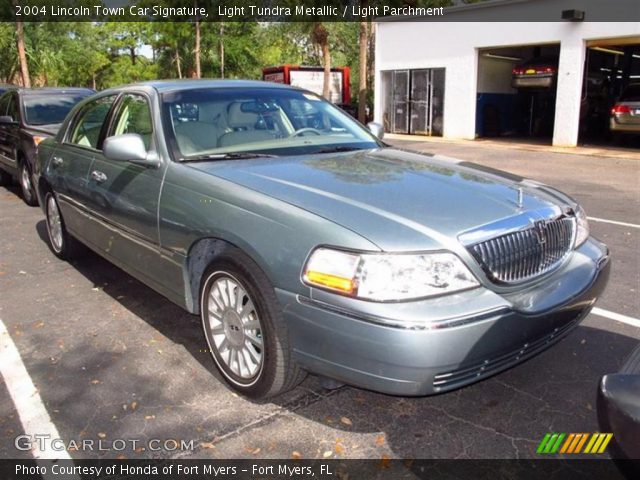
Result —
<path fill-rule="evenodd" d="M 24 22 L 632 22 L 637 0 L 4 0 Z"/>

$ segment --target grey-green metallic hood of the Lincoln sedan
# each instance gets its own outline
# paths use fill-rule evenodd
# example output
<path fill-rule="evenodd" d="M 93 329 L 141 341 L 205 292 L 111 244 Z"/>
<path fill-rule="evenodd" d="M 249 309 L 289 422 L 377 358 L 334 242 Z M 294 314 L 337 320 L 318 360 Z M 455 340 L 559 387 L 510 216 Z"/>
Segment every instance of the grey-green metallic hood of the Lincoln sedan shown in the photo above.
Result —
<path fill-rule="evenodd" d="M 386 251 L 442 248 L 465 231 L 569 201 L 505 172 L 394 148 L 190 165 L 320 215 Z"/>

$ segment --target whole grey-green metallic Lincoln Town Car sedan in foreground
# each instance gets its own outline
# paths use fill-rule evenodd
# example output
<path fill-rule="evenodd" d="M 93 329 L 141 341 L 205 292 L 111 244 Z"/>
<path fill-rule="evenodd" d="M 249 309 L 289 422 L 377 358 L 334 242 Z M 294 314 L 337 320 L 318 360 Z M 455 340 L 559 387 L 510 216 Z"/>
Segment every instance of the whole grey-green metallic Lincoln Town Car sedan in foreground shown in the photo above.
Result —
<path fill-rule="evenodd" d="M 101 92 L 41 144 L 34 182 L 58 256 L 77 239 L 200 314 L 252 397 L 306 371 L 400 395 L 472 383 L 575 327 L 609 273 L 566 195 L 387 147 L 281 85 Z"/>

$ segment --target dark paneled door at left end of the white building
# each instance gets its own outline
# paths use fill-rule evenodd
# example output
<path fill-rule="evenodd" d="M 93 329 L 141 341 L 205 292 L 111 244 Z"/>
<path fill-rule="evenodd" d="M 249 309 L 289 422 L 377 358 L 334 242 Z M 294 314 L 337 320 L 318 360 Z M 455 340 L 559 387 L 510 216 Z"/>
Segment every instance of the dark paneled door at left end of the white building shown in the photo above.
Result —
<path fill-rule="evenodd" d="M 444 76 L 444 68 L 382 72 L 385 132 L 441 136 Z"/>

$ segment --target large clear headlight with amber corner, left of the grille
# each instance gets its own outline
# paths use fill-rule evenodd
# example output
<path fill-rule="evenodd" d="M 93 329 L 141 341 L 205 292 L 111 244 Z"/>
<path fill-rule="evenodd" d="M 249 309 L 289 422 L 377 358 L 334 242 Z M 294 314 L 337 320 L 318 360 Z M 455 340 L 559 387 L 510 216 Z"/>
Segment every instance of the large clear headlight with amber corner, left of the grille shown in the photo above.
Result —
<path fill-rule="evenodd" d="M 424 298 L 478 286 L 452 253 L 378 254 L 315 250 L 305 283 L 379 302 Z"/>

